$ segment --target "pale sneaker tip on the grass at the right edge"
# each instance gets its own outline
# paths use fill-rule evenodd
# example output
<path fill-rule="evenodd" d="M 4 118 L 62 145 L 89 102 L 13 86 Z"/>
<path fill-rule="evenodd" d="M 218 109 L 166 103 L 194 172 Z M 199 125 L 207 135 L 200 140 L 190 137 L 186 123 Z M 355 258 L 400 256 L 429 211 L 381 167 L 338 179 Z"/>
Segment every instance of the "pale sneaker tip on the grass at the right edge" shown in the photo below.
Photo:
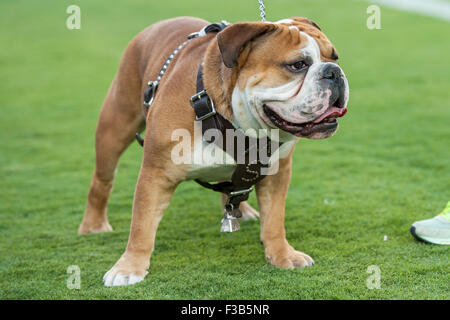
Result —
<path fill-rule="evenodd" d="M 418 240 L 450 245 L 450 201 L 439 215 L 414 222 L 409 231 Z"/>

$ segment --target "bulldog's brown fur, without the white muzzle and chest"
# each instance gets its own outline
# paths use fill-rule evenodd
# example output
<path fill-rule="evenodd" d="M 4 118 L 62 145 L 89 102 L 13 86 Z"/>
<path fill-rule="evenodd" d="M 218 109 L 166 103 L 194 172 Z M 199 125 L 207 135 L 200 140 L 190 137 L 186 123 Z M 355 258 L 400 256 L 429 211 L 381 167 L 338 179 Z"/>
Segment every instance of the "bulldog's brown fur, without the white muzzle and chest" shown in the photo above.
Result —
<path fill-rule="evenodd" d="M 316 25 L 304 18 L 296 18 L 295 21 L 299 28 L 316 38 L 325 59 L 333 60 L 334 55 L 337 56 Z M 130 237 L 125 253 L 110 270 L 115 274 L 145 276 L 164 209 L 177 185 L 186 179 L 187 166 L 175 165 L 170 159 L 170 150 L 176 143 L 171 140 L 171 133 L 178 128 L 193 132 L 194 112 L 189 98 L 196 92 L 195 80 L 200 62 L 205 61 L 205 87 L 218 112 L 228 119 L 232 119 L 231 93 L 238 75 L 242 77 L 247 73 L 251 76 L 254 68 L 267 68 L 265 76 L 260 79 L 267 85 L 271 82 L 279 84 L 286 81 L 280 77 L 289 77 L 273 73 L 269 62 L 265 63 L 265 57 L 273 57 L 277 52 L 281 59 L 284 50 L 280 48 L 286 47 L 286 52 L 290 51 L 292 44 L 285 37 L 292 32 L 291 29 L 261 22 L 235 24 L 217 37 L 210 34 L 192 40 L 180 51 L 164 75 L 145 119 L 142 97 L 147 82 L 157 77 L 165 59 L 189 33 L 199 31 L 207 24 L 200 19 L 177 18 L 156 23 L 142 31 L 128 45 L 103 103 L 96 132 L 96 166 L 79 234 L 112 230 L 107 220 L 106 205 L 119 157 L 134 140 L 135 133 L 147 128 Z M 270 44 L 270 37 L 277 37 L 277 47 Z M 300 35 L 297 37 L 301 42 Z M 277 174 L 267 176 L 256 185 L 266 258 L 283 268 L 313 263 L 308 255 L 290 246 L 285 235 L 284 206 L 291 177 L 292 151 L 287 158 L 280 160 Z M 241 208 L 257 214 L 246 203 Z"/>

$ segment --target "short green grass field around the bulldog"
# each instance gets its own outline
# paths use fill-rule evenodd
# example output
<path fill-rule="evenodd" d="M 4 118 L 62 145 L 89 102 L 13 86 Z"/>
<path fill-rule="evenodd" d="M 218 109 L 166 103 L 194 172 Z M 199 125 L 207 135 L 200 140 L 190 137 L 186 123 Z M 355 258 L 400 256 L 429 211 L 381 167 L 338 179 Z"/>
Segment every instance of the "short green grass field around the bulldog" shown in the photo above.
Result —
<path fill-rule="evenodd" d="M 65 28 L 69 4 L 81 7 L 81 30 Z M 256 1 L 2 1 L 0 298 L 450 298 L 450 248 L 408 232 L 450 199 L 449 24 L 383 9 L 382 29 L 370 31 L 366 2 L 266 5 L 270 20 L 300 15 L 321 25 L 351 87 L 338 134 L 300 141 L 294 155 L 287 237 L 315 266 L 268 265 L 258 221 L 220 234 L 219 196 L 189 182 L 164 215 L 146 280 L 103 287 L 128 238 L 137 144 L 122 157 L 111 196 L 115 232 L 76 235 L 99 108 L 128 41 L 180 15 L 256 20 Z M 66 287 L 69 265 L 81 268 L 80 290 Z M 379 290 L 366 287 L 370 265 L 381 269 Z"/>

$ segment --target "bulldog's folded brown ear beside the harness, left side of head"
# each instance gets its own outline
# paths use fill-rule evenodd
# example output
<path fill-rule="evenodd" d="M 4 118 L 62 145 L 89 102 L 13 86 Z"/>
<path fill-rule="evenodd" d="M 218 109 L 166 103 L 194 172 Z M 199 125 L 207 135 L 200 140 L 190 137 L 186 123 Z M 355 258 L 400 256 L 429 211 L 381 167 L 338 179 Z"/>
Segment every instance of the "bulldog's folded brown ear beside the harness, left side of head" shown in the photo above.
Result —
<path fill-rule="evenodd" d="M 239 54 L 245 45 L 275 28 L 275 25 L 264 22 L 238 22 L 219 32 L 217 42 L 223 63 L 228 68 L 237 66 Z"/>

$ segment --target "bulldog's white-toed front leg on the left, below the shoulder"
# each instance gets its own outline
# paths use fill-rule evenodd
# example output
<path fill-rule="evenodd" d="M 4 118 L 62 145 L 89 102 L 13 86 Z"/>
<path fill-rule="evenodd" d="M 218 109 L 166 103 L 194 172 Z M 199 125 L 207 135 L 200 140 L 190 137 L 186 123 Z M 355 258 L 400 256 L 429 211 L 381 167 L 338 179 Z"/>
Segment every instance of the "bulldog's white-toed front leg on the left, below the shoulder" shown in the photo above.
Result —
<path fill-rule="evenodd" d="M 128 245 L 105 274 L 105 286 L 130 285 L 144 280 L 150 266 L 156 229 L 177 183 L 165 170 L 143 166 L 136 185 Z"/>

